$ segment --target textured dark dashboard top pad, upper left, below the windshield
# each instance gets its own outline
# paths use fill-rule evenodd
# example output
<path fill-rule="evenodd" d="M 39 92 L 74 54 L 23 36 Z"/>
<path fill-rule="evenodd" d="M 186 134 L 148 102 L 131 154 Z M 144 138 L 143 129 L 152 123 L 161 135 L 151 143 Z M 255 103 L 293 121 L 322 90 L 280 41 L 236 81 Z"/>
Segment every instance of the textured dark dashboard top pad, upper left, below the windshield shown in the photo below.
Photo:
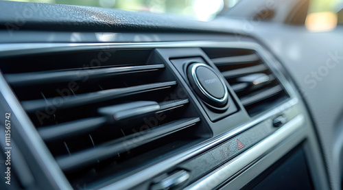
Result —
<path fill-rule="evenodd" d="M 128 12 L 106 8 L 46 3 L 0 1 L 3 29 L 44 29 L 59 31 L 175 31 L 220 32 L 220 27 L 177 16 Z"/>

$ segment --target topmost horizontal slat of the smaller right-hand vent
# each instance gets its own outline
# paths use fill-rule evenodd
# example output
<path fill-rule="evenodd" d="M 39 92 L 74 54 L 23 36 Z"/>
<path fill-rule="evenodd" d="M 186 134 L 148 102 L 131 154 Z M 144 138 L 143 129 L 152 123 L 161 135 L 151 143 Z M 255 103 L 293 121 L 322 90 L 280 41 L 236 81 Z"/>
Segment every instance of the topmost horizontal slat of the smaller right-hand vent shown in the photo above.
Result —
<path fill-rule="evenodd" d="M 256 62 L 259 60 L 259 56 L 256 54 L 244 55 L 244 56 L 230 56 L 224 58 L 212 58 L 212 62 L 217 66 L 228 64 L 241 64 L 247 62 Z"/>

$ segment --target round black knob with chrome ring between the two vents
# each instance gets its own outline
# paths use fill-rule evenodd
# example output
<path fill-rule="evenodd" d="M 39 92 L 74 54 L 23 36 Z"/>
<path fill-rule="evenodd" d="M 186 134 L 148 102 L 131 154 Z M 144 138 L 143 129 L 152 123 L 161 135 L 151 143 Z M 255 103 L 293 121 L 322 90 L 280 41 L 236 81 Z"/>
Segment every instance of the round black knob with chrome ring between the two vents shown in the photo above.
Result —
<path fill-rule="evenodd" d="M 228 88 L 212 67 L 204 63 L 193 63 L 187 69 L 187 76 L 194 91 L 204 102 L 218 108 L 226 106 Z"/>

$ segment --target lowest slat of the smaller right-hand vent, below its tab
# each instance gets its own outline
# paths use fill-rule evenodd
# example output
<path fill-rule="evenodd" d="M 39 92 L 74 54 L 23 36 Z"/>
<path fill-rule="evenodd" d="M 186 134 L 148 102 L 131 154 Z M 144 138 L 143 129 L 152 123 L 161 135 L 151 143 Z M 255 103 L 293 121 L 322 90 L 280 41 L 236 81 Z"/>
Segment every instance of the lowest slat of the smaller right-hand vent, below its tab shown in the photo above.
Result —
<path fill-rule="evenodd" d="M 251 95 L 249 97 L 242 97 L 241 103 L 244 106 L 249 106 L 250 104 L 254 104 L 255 102 L 259 102 L 263 99 L 267 99 L 268 97 L 272 97 L 273 95 L 276 95 L 281 91 L 283 91 L 283 88 L 280 85 L 268 89 L 263 89 L 255 93 L 255 95 Z"/>

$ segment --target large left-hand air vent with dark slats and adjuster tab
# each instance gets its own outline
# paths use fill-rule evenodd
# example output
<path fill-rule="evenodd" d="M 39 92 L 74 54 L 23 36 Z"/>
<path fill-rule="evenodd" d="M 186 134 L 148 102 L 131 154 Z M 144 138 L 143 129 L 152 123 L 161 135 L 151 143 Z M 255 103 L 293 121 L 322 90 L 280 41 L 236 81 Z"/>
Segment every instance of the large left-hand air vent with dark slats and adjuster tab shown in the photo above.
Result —
<path fill-rule="evenodd" d="M 0 62 L 76 189 L 119 179 L 211 136 L 154 49 L 34 54 Z"/>

